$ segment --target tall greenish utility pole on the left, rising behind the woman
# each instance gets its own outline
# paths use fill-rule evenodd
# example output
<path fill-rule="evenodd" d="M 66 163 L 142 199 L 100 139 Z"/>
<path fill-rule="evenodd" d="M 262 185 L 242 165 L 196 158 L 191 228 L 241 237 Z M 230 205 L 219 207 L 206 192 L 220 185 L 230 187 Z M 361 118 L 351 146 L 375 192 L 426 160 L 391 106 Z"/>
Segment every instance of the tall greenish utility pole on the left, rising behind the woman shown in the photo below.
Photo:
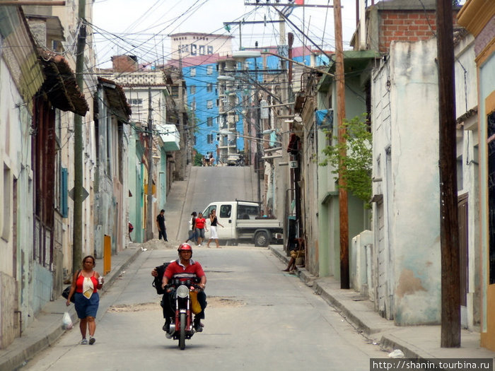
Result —
<path fill-rule="evenodd" d="M 79 0 L 77 36 L 76 82 L 84 93 L 84 49 L 86 47 L 86 0 Z M 72 228 L 72 272 L 76 272 L 83 259 L 83 117 L 74 114 L 74 221 Z"/>

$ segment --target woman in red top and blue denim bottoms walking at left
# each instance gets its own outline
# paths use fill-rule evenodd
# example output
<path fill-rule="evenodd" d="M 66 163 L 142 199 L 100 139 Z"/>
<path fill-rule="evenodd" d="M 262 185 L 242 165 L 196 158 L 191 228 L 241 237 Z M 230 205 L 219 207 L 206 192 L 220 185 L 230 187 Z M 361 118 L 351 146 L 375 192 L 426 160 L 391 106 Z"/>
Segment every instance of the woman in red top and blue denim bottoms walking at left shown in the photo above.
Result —
<path fill-rule="evenodd" d="M 81 344 L 88 343 L 86 339 L 86 331 L 89 330 L 89 345 L 93 345 L 96 341 L 96 312 L 100 304 L 100 295 L 98 289 L 103 286 L 103 277 L 94 270 L 95 258 L 88 255 L 83 259 L 83 269 L 79 269 L 74 273 L 72 278 L 71 290 L 67 297 L 66 305 L 71 305 L 72 295 L 74 296 L 74 305 L 76 305 L 77 317 L 80 319 L 79 329 L 81 330 Z"/>

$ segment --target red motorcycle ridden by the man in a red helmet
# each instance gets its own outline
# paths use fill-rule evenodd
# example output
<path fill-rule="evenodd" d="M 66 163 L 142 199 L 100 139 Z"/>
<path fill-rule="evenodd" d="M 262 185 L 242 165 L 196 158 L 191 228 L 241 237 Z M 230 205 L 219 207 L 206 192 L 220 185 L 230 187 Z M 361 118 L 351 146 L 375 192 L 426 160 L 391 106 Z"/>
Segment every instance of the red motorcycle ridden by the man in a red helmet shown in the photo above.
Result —
<path fill-rule="evenodd" d="M 165 333 L 167 338 L 173 338 L 179 341 L 181 351 L 185 349 L 185 340 L 192 338 L 195 332 L 193 323 L 192 310 L 192 293 L 201 290 L 199 285 L 187 280 L 181 282 L 180 279 L 174 278 L 167 285 L 168 290 L 172 290 L 173 299 L 175 302 L 175 317 L 172 318 L 170 329 Z M 199 303 L 198 303 L 199 305 Z"/>

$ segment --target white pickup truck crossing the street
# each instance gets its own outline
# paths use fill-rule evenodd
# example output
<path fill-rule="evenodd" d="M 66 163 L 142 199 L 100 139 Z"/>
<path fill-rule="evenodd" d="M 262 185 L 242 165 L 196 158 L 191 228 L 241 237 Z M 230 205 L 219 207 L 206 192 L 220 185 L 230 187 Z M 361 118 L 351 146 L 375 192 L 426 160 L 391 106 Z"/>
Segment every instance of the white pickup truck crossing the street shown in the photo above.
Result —
<path fill-rule="evenodd" d="M 216 201 L 203 211 L 209 229 L 209 214 L 216 209 L 216 218 L 223 228 L 216 228 L 219 240 L 237 244 L 239 240 L 250 240 L 255 246 L 267 247 L 270 242 L 283 243 L 284 228 L 281 220 L 260 216 L 260 205 L 250 201 Z M 206 239 L 208 236 L 206 235 Z"/>

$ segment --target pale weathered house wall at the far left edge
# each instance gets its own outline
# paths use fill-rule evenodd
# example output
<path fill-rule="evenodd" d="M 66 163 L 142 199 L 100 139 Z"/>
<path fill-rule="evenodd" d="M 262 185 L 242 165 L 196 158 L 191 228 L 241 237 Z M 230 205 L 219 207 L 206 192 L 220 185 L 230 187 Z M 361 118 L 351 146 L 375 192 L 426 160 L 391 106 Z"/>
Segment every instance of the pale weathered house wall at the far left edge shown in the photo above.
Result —
<path fill-rule="evenodd" d="M 33 321 L 29 294 L 33 290 L 32 116 L 0 57 L 0 348 Z M 6 179 L 8 177 L 8 179 Z M 8 187 L 8 189 L 5 189 Z M 15 196 L 16 195 L 16 196 Z M 22 220 L 22 221 L 21 221 Z M 15 314 L 14 311 L 20 313 Z M 7 331 L 7 332 L 5 332 Z"/>

